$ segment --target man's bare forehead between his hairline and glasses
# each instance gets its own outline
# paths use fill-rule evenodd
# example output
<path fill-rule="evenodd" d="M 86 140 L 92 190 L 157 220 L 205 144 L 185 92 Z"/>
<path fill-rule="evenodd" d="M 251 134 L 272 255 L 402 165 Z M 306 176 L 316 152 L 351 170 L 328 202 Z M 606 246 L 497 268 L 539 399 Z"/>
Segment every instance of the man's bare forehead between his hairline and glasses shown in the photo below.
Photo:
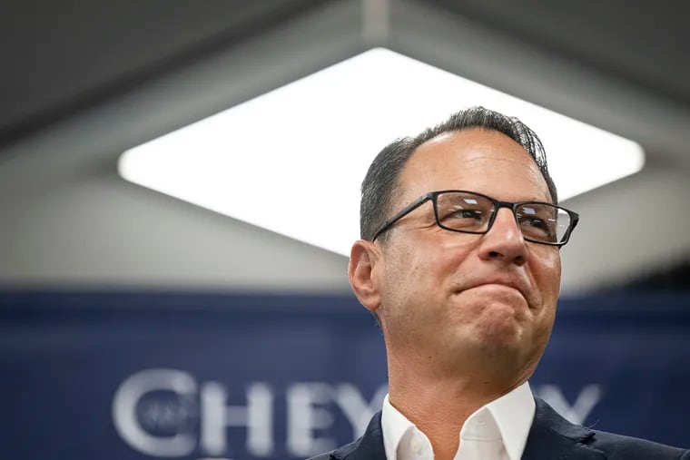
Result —
<path fill-rule="evenodd" d="M 502 132 L 468 129 L 424 142 L 399 178 L 403 202 L 428 191 L 478 191 L 502 201 L 550 201 L 537 163 Z"/>

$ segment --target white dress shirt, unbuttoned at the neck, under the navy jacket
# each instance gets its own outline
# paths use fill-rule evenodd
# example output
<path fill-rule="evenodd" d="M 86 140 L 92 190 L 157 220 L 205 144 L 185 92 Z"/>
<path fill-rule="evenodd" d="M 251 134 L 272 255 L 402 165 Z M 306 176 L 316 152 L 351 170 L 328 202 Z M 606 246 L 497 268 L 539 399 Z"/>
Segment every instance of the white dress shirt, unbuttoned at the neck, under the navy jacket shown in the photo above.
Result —
<path fill-rule="evenodd" d="M 455 460 L 520 460 L 534 413 L 527 382 L 479 407 L 458 434 Z M 433 460 L 429 438 L 390 404 L 388 395 L 383 400 L 381 429 L 388 460 Z"/>

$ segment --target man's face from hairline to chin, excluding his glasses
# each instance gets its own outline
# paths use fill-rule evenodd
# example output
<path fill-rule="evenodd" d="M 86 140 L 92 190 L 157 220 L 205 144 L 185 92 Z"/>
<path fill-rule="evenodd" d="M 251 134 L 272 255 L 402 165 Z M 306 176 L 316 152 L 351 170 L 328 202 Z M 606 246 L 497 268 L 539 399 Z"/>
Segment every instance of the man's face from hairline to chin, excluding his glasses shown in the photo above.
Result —
<path fill-rule="evenodd" d="M 500 201 L 551 201 L 529 154 L 487 130 L 419 147 L 391 214 L 428 191 L 477 191 Z M 439 365 L 517 366 L 529 377 L 546 347 L 560 285 L 557 248 L 523 240 L 501 208 L 487 234 L 440 229 L 429 201 L 388 230 L 372 271 L 389 347 Z M 469 361 L 475 362 L 470 363 Z"/>

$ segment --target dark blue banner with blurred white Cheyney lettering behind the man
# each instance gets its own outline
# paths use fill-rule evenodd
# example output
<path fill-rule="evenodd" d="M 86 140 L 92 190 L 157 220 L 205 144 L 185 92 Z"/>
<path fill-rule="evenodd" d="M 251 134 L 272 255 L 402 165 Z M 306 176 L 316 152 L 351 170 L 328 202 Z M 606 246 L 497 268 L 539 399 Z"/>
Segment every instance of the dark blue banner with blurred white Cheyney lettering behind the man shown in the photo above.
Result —
<path fill-rule="evenodd" d="M 297 459 L 386 394 L 351 297 L 0 295 L 5 458 Z M 566 299 L 535 393 L 572 421 L 690 445 L 690 295 Z"/>

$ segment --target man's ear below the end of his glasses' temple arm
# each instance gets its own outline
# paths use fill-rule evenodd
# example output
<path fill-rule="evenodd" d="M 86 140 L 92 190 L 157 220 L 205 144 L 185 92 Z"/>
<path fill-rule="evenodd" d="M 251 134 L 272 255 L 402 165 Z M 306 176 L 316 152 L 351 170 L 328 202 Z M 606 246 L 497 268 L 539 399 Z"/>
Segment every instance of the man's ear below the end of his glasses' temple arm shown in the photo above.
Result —
<path fill-rule="evenodd" d="M 370 241 L 358 240 L 352 245 L 348 266 L 350 286 L 360 303 L 372 313 L 381 305 L 378 283 L 374 279 L 379 261 L 380 251 Z"/>

